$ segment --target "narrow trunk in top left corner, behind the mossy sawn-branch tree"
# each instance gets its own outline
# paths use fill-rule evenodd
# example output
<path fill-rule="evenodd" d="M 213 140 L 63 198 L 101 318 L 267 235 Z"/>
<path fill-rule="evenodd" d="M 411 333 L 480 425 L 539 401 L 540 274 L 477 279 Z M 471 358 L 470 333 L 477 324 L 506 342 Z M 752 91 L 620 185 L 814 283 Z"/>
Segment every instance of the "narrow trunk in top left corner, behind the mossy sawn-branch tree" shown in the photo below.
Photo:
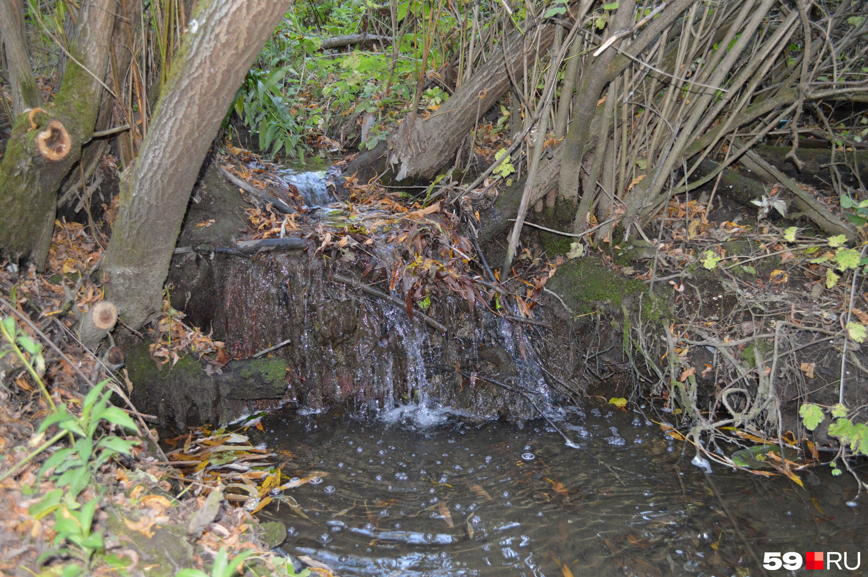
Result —
<path fill-rule="evenodd" d="M 30 68 L 21 9 L 21 0 L 0 0 L 0 36 L 3 36 L 3 45 L 6 48 L 3 69 L 9 72 L 14 118 L 21 115 L 26 108 L 38 108 L 43 102 L 36 86 L 36 76 Z"/>

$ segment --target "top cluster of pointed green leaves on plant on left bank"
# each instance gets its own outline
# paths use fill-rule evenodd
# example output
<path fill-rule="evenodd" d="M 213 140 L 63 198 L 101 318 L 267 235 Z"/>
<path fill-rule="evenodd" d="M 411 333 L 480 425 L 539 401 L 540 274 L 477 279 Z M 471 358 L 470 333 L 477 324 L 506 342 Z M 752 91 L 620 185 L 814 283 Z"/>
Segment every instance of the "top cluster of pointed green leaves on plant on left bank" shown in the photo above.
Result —
<path fill-rule="evenodd" d="M 117 407 L 109 406 L 111 391 L 105 389 L 108 381 L 103 381 L 91 389 L 82 402 L 82 416 L 70 413 L 62 404 L 57 412 L 49 415 L 39 425 L 42 433 L 51 425 L 67 430 L 76 436 L 71 447 L 58 449 L 44 463 L 39 475 L 54 469 L 52 479 L 57 487 L 68 487 L 69 494 L 76 497 L 90 482 L 97 469 L 109 459 L 118 455 L 130 455 L 138 441 L 127 441 L 120 436 L 97 436 L 102 421 L 125 429 L 137 430 L 133 420 Z"/>

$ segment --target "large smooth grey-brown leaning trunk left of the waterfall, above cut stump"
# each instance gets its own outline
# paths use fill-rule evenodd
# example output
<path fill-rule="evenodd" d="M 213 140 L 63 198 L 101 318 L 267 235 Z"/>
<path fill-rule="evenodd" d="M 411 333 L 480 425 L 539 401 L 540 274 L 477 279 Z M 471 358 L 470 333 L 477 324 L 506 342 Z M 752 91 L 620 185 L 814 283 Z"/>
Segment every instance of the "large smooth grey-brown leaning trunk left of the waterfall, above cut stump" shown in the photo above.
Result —
<path fill-rule="evenodd" d="M 291 1 L 213 0 L 195 10 L 133 167 L 124 172 L 107 298 L 134 329 L 160 311 L 190 191 L 244 75 Z"/>

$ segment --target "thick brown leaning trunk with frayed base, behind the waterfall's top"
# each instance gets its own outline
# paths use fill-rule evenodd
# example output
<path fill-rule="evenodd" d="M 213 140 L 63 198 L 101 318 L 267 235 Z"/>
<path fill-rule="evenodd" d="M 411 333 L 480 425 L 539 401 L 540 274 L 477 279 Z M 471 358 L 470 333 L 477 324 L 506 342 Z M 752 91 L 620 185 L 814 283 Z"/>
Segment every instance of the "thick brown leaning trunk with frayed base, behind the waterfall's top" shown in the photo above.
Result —
<path fill-rule="evenodd" d="M 420 116 L 413 118 L 411 111 L 388 141 L 359 154 L 344 174 L 355 174 L 359 181 L 365 181 L 383 172 L 389 163 L 397 172 L 396 180 L 433 179 L 437 171 L 454 160 L 464 134 L 510 89 L 510 74 L 521 75 L 524 62 L 533 62 L 537 53 L 549 50 L 555 40 L 555 26 L 540 23 L 538 32 L 537 38 L 536 31 L 526 30 L 526 42 L 520 30 L 512 30 L 506 37 L 505 55 L 503 45 L 498 46 L 470 81 L 464 82 L 436 112 L 423 120 Z M 506 62 L 510 63 L 509 74 Z"/>

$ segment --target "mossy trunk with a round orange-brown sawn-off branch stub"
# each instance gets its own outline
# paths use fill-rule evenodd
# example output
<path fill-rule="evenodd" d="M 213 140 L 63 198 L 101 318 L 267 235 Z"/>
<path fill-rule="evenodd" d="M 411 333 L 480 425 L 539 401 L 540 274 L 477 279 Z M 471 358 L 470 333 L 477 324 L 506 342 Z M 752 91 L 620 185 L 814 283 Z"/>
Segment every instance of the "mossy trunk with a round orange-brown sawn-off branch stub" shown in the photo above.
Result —
<path fill-rule="evenodd" d="M 113 0 L 83 3 L 69 45 L 77 63 L 67 64 L 54 107 L 16 118 L 0 167 L 0 248 L 13 260 L 41 267 L 48 256 L 57 188 L 94 132 L 114 23 Z"/>

